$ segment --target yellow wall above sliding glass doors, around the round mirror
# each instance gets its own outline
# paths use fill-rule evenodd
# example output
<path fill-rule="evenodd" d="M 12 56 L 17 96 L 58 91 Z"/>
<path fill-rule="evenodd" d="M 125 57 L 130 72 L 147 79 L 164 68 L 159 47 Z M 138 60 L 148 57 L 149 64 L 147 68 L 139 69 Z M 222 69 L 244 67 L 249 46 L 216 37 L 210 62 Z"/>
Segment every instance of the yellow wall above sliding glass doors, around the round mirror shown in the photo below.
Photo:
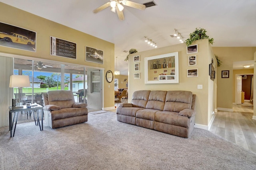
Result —
<path fill-rule="evenodd" d="M 105 74 L 107 70 L 114 72 L 114 44 L 102 39 L 82 33 L 70 27 L 46 20 L 28 12 L 19 10 L 0 2 L 0 21 L 36 32 L 36 52 L 0 47 L 1 53 L 23 55 L 51 61 L 80 64 L 104 68 L 104 108 L 114 107 L 114 81 L 107 83 Z M 76 43 L 77 59 L 68 59 L 50 55 L 50 36 Z M 104 64 L 85 61 L 85 47 L 93 47 L 104 51 Z M 110 87 L 108 88 L 108 85 Z"/>

